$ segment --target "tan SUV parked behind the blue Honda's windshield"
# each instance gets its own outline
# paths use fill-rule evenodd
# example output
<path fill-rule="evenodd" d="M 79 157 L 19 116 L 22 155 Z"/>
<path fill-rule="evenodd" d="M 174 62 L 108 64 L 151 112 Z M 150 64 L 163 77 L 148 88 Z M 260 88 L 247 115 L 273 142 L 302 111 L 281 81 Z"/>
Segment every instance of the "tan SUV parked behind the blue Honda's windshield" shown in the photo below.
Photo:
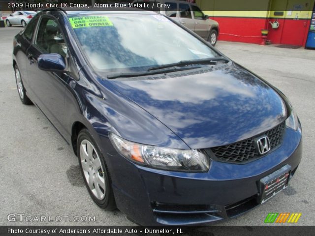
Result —
<path fill-rule="evenodd" d="M 175 21 L 181 23 L 188 29 L 194 31 L 200 37 L 209 41 L 212 46 L 217 43 L 219 35 L 219 23 L 209 16 L 205 15 L 195 3 L 185 2 L 181 0 L 134 0 L 133 3 L 148 3 L 154 2 L 154 6 L 161 5 L 160 8 L 155 8 L 155 11 L 174 18 Z M 167 7 L 165 7 L 167 4 Z M 146 9 L 146 8 L 144 8 Z"/>

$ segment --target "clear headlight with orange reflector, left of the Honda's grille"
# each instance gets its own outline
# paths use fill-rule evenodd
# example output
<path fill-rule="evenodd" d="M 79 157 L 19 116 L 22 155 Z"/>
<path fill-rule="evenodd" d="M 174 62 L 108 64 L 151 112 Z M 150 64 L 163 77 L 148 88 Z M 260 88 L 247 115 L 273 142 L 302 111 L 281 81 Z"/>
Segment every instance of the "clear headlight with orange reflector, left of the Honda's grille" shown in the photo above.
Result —
<path fill-rule="evenodd" d="M 184 172 L 206 172 L 209 170 L 209 158 L 197 150 L 137 144 L 113 133 L 109 134 L 109 138 L 120 154 L 140 165 Z"/>

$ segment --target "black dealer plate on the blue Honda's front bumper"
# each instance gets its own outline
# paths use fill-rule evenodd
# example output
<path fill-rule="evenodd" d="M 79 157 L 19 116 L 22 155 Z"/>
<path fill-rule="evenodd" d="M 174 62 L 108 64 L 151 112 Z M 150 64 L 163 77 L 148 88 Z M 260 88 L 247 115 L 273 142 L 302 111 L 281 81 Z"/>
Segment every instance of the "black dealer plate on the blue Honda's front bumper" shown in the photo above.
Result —
<path fill-rule="evenodd" d="M 260 179 L 260 204 L 267 202 L 287 187 L 291 166 L 285 165 L 278 171 Z"/>

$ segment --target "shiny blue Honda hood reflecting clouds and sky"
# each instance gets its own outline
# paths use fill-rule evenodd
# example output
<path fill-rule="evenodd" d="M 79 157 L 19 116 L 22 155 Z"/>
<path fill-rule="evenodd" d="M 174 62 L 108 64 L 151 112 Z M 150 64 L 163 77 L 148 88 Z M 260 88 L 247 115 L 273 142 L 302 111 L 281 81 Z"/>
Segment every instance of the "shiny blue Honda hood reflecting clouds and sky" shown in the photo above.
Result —
<path fill-rule="evenodd" d="M 234 63 L 209 72 L 180 71 L 109 83 L 190 148 L 244 140 L 273 128 L 286 116 L 280 95 Z"/>

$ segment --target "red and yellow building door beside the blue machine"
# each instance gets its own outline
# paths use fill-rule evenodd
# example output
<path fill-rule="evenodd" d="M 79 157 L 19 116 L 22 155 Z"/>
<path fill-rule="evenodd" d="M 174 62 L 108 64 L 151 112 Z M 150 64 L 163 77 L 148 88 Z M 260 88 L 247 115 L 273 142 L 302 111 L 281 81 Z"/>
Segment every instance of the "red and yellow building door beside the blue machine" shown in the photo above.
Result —
<path fill-rule="evenodd" d="M 281 44 L 303 46 L 311 0 L 287 0 Z"/>

